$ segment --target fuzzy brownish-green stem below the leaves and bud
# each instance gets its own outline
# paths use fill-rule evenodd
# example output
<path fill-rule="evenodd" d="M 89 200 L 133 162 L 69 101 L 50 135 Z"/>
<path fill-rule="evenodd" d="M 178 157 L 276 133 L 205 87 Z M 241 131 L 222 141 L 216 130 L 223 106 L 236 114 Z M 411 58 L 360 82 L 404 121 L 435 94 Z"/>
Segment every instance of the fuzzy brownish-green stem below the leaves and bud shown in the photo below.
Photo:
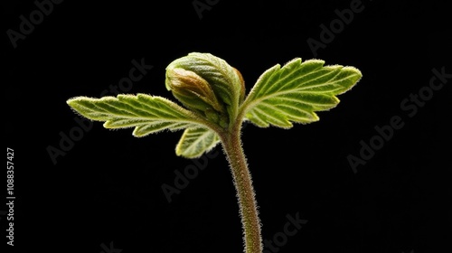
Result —
<path fill-rule="evenodd" d="M 240 140 L 241 122 L 231 132 L 223 132 L 221 143 L 231 165 L 231 173 L 239 201 L 240 218 L 246 253 L 262 253 L 260 221 L 251 175 Z"/>

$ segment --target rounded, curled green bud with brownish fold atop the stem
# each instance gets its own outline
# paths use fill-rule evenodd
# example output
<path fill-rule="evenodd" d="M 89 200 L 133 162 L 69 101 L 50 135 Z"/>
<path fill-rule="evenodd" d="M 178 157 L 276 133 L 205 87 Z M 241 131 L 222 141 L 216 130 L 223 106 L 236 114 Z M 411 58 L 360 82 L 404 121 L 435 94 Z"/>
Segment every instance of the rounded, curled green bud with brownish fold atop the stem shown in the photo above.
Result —
<path fill-rule="evenodd" d="M 192 52 L 166 67 L 165 85 L 187 108 L 227 126 L 245 98 L 239 70 L 210 53 Z"/>

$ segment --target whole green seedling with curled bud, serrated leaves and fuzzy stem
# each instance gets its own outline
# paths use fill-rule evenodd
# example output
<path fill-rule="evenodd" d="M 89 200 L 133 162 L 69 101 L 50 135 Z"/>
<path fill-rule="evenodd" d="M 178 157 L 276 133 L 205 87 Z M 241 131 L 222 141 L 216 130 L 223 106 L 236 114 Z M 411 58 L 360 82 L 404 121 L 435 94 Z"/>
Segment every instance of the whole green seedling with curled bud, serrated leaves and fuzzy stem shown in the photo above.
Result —
<path fill-rule="evenodd" d="M 192 52 L 166 68 L 166 89 L 184 107 L 166 98 L 146 94 L 104 98 L 71 98 L 67 103 L 106 128 L 133 127 L 142 137 L 162 130 L 184 130 L 175 154 L 196 158 L 221 143 L 231 165 L 240 207 L 246 253 L 261 253 L 259 213 L 250 171 L 241 147 L 244 121 L 259 127 L 291 128 L 293 123 L 319 120 L 316 111 L 334 108 L 336 95 L 352 89 L 360 70 L 325 61 L 296 58 L 282 68 L 266 70 L 245 95 L 239 70 L 210 53 Z"/>

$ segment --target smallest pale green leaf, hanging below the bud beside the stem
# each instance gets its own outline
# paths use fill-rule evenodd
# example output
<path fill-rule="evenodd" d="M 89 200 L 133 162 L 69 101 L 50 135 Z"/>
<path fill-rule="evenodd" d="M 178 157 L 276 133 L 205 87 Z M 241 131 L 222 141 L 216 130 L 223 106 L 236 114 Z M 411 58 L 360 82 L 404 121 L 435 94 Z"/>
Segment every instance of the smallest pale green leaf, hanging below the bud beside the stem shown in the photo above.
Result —
<path fill-rule="evenodd" d="M 175 148 L 175 154 L 186 158 L 197 158 L 209 152 L 220 142 L 220 138 L 207 128 L 188 128 Z"/>

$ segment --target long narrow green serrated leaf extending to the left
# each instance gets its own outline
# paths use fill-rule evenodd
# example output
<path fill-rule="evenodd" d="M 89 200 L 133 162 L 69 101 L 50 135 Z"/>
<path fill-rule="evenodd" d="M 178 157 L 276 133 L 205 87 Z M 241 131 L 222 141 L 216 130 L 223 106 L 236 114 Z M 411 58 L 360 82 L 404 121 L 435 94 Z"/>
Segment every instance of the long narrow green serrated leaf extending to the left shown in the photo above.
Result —
<path fill-rule="evenodd" d="M 146 94 L 115 97 L 77 97 L 67 101 L 81 116 L 105 121 L 105 128 L 135 127 L 133 135 L 147 136 L 165 129 L 175 131 L 203 126 L 192 112 L 174 102 Z"/>

